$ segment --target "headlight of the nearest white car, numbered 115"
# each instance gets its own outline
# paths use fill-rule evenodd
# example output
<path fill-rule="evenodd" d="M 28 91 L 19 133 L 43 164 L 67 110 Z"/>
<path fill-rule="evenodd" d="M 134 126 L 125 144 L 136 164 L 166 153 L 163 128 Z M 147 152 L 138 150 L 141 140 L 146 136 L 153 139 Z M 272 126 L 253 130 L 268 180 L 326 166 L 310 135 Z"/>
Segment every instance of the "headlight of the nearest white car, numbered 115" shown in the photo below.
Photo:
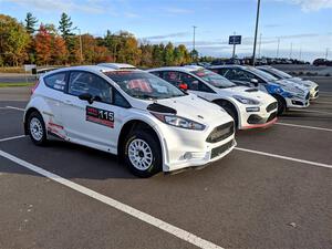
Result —
<path fill-rule="evenodd" d="M 157 117 L 159 121 L 164 122 L 165 124 L 180 127 L 180 128 L 188 128 L 188 129 L 196 129 L 196 131 L 203 131 L 205 129 L 205 125 L 199 124 L 195 121 L 187 120 L 185 117 L 175 116 L 175 115 L 167 115 L 167 114 L 160 114 L 160 113 L 151 113 L 155 117 Z"/>

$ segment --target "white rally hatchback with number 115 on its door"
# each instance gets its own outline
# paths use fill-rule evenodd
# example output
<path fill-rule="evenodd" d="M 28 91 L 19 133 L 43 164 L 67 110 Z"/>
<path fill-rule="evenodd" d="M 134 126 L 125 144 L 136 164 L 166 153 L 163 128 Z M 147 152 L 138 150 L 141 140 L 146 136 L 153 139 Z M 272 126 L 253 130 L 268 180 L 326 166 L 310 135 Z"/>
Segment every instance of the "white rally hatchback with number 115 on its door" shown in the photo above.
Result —
<path fill-rule="evenodd" d="M 222 108 L 115 63 L 41 76 L 24 127 L 37 145 L 58 137 L 120 155 L 141 177 L 205 165 L 236 146 L 234 121 Z"/>

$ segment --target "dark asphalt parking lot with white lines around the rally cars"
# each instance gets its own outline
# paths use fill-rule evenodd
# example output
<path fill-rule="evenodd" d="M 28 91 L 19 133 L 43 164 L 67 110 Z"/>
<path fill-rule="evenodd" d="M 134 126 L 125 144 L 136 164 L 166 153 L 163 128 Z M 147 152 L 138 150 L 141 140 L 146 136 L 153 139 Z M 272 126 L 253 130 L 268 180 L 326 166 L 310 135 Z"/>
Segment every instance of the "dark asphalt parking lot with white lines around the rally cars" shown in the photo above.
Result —
<path fill-rule="evenodd" d="M 330 249 L 332 91 L 323 89 L 309 108 L 239 132 L 224 159 L 148 179 L 91 148 L 34 146 L 22 136 L 27 101 L 0 93 L 0 248 Z"/>

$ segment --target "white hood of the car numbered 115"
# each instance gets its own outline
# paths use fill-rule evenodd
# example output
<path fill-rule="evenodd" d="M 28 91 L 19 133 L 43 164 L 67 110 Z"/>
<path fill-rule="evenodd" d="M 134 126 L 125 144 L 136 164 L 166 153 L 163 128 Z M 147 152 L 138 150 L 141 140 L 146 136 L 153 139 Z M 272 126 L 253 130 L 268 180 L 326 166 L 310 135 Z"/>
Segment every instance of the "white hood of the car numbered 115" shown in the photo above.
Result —
<path fill-rule="evenodd" d="M 157 101 L 142 101 L 143 104 L 134 106 L 141 110 L 147 110 L 153 103 L 167 106 L 176 111 L 177 116 L 209 125 L 210 123 L 227 123 L 232 118 L 218 105 L 209 103 L 194 94 L 181 97 L 172 97 Z"/>

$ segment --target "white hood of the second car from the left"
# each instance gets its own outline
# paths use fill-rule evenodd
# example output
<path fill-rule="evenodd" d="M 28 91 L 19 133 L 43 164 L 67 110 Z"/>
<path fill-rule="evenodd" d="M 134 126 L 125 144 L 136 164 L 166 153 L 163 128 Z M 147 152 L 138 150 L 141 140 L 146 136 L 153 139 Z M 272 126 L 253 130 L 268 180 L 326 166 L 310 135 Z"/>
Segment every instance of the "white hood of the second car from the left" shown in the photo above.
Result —
<path fill-rule="evenodd" d="M 215 89 L 217 92 L 227 92 L 230 96 L 234 95 L 240 95 L 242 97 L 248 97 L 251 100 L 257 100 L 259 102 L 263 101 L 273 101 L 274 98 L 270 95 L 267 94 L 258 89 L 253 87 L 246 87 L 246 86 L 236 86 L 236 87 L 229 87 L 229 89 Z"/>

